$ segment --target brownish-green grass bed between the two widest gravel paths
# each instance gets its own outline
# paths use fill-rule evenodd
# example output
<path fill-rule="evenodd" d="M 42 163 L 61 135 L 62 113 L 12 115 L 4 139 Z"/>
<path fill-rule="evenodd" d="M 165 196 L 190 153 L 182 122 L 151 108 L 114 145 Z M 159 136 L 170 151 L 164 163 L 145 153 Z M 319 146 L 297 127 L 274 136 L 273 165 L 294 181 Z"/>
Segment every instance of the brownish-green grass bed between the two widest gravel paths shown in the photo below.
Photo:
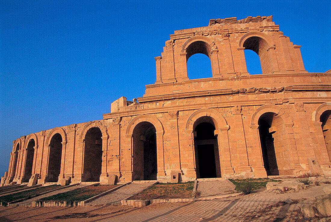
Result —
<path fill-rule="evenodd" d="M 157 183 L 128 200 L 192 198 L 194 181 L 186 183 Z"/>

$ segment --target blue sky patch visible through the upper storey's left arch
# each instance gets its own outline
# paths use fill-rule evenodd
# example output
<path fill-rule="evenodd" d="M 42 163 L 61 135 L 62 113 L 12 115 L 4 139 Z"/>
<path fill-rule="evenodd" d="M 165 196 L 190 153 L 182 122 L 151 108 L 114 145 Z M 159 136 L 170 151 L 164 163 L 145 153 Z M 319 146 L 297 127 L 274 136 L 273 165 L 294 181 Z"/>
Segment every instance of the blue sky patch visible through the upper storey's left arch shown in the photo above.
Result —
<path fill-rule="evenodd" d="M 197 53 L 187 61 L 187 76 L 189 79 L 211 78 L 212 67 L 208 56 Z"/>

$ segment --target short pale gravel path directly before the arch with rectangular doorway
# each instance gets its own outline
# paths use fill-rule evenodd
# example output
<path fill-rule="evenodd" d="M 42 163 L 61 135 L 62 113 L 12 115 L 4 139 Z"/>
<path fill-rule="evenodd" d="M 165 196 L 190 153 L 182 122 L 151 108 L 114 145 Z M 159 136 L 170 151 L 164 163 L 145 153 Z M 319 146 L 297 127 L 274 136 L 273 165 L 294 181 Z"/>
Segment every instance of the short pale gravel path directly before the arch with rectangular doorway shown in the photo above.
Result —
<path fill-rule="evenodd" d="M 234 187 L 225 180 L 198 181 L 197 192 L 200 193 L 199 197 L 237 193 Z"/>

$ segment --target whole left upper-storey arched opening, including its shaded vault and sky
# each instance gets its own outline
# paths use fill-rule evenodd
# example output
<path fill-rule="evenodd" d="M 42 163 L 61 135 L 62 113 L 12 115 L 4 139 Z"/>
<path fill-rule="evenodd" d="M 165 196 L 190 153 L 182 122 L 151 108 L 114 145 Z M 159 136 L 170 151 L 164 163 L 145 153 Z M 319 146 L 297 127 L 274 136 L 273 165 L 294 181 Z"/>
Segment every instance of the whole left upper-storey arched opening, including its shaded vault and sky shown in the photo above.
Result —
<path fill-rule="evenodd" d="M 186 53 L 187 75 L 189 79 L 213 77 L 211 47 L 208 43 L 195 41 L 187 47 Z"/>

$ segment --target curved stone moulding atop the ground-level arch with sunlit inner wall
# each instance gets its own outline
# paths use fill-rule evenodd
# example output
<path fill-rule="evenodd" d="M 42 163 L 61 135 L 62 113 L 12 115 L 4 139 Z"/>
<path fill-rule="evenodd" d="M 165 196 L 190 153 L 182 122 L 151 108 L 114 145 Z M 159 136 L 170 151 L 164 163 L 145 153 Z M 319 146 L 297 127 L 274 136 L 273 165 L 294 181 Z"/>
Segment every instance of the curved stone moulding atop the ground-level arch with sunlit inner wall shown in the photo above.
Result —
<path fill-rule="evenodd" d="M 276 113 L 276 115 L 282 116 L 285 125 L 293 126 L 293 120 L 291 116 L 287 112 L 283 111 L 280 107 L 275 105 L 263 105 L 253 113 L 251 117 L 251 127 L 254 125 L 258 126 L 260 116 L 266 112 L 273 112 Z"/>

